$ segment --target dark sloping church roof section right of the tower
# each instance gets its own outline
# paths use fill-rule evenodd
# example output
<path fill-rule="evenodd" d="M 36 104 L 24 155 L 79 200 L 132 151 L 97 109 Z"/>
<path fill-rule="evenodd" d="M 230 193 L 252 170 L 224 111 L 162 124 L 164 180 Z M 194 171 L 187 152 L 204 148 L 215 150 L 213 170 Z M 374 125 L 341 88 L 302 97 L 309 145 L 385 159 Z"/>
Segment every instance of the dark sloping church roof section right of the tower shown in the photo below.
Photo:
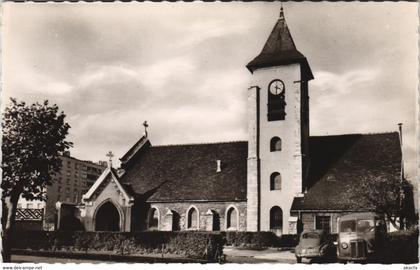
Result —
<path fill-rule="evenodd" d="M 397 132 L 311 137 L 309 147 L 309 188 L 303 198 L 295 198 L 292 211 L 374 210 L 362 197 L 356 207 L 349 188 L 363 178 L 369 181 L 378 175 L 400 178 L 402 156 Z M 365 209 L 360 209 L 360 204 Z"/>

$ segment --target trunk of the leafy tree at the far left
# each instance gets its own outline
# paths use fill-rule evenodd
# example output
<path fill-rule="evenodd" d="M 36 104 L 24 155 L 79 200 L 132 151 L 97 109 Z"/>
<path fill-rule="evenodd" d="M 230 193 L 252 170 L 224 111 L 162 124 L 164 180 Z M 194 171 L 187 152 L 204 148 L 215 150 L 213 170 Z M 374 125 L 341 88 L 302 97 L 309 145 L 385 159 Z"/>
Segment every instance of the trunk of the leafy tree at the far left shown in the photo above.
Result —
<path fill-rule="evenodd" d="M 2 235 L 2 251 L 3 262 L 11 262 L 11 251 L 13 243 L 13 230 L 15 227 L 16 208 L 20 195 L 11 195 L 4 198 L 4 203 L 7 208 L 7 220 L 3 228 Z"/>

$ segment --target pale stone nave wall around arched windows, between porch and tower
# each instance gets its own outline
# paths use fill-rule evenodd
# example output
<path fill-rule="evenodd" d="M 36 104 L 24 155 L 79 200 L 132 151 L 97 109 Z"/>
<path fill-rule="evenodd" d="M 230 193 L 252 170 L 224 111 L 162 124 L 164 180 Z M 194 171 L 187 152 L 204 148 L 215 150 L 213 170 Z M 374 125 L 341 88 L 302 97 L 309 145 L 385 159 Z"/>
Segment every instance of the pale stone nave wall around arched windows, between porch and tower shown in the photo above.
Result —
<path fill-rule="evenodd" d="M 187 228 L 187 212 L 192 207 L 194 207 L 199 213 L 198 230 L 226 230 L 226 215 L 227 211 L 231 207 L 234 207 L 237 211 L 237 230 L 246 230 L 246 202 L 150 203 L 151 209 L 155 208 L 158 210 L 158 230 L 164 231 L 169 231 L 172 229 L 188 230 L 189 228 Z M 133 213 L 133 215 L 135 214 L 136 213 Z M 213 220 L 215 221 L 214 223 Z M 178 223 L 179 225 L 175 223 Z"/>

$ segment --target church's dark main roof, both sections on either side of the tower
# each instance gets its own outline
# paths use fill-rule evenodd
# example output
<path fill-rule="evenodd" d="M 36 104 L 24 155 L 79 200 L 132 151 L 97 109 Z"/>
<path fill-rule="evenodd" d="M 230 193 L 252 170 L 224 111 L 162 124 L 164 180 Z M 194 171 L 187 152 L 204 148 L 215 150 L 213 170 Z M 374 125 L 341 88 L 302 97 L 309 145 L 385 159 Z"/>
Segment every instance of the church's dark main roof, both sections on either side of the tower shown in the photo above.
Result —
<path fill-rule="evenodd" d="M 142 139 L 141 139 L 142 140 Z M 292 211 L 361 210 L 349 187 L 363 177 L 399 179 L 399 135 L 351 134 L 310 137 L 308 191 Z M 137 144 L 136 144 L 137 145 Z M 120 182 L 147 201 L 246 201 L 248 143 L 151 146 L 127 160 Z M 130 150 L 130 153 L 132 151 Z M 216 160 L 222 171 L 216 172 Z M 363 210 L 373 210 L 366 206 Z"/>

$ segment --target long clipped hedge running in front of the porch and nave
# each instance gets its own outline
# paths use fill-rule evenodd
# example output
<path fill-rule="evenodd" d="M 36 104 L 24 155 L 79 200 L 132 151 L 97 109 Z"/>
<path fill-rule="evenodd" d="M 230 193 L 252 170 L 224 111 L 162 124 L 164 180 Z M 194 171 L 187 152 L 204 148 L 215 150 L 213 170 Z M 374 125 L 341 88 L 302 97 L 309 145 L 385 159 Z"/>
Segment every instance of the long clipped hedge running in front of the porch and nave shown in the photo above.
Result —
<path fill-rule="evenodd" d="M 217 261 L 224 239 L 209 232 L 63 232 L 26 231 L 14 238 L 13 248 L 31 250 L 112 251 L 115 254 L 177 254 Z"/>

